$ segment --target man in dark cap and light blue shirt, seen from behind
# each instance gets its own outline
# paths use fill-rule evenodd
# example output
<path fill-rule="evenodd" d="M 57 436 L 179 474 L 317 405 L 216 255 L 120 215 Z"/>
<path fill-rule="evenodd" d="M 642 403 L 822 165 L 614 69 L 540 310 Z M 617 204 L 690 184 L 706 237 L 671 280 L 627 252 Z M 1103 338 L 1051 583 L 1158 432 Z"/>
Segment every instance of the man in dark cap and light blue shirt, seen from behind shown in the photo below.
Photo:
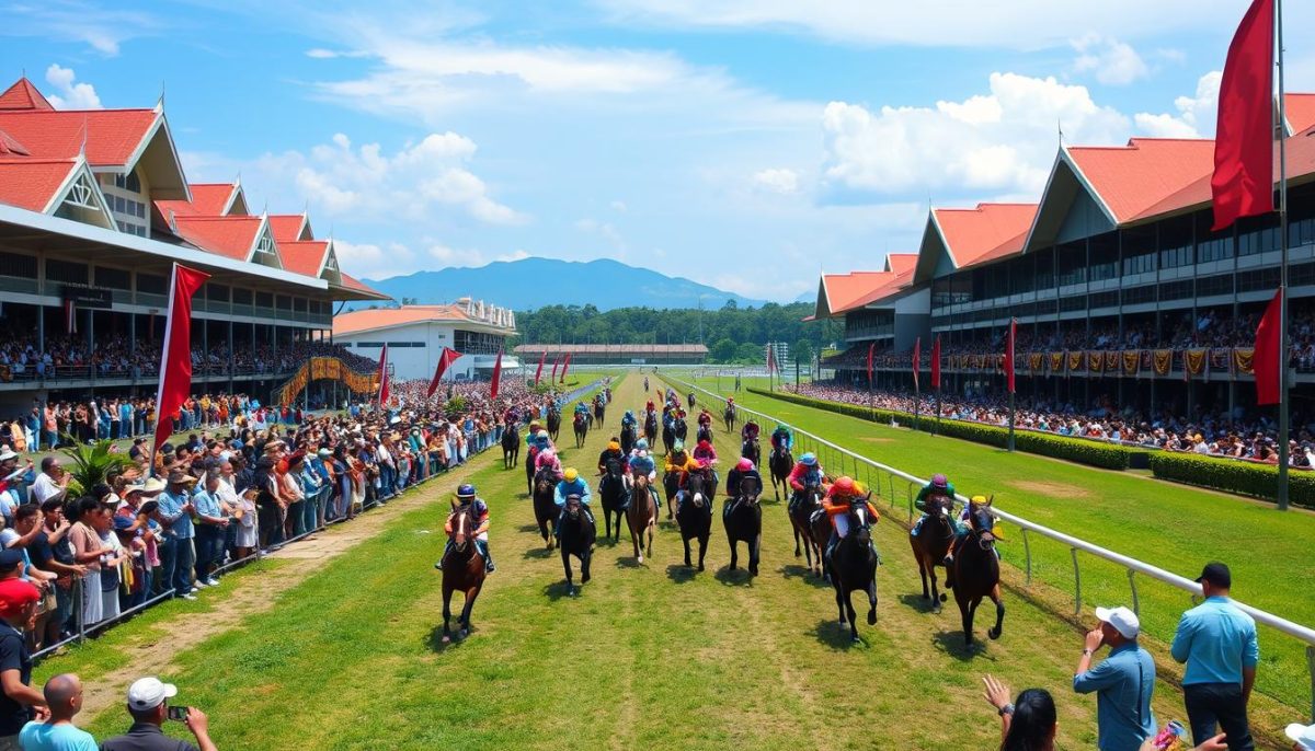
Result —
<path fill-rule="evenodd" d="M 1191 735 L 1201 744 L 1218 725 L 1228 735 L 1230 751 L 1252 751 L 1247 702 L 1260 662 L 1256 621 L 1228 599 L 1228 566 L 1207 563 L 1197 582 L 1206 601 L 1182 614 L 1169 650 L 1187 664 L 1182 695 Z"/>

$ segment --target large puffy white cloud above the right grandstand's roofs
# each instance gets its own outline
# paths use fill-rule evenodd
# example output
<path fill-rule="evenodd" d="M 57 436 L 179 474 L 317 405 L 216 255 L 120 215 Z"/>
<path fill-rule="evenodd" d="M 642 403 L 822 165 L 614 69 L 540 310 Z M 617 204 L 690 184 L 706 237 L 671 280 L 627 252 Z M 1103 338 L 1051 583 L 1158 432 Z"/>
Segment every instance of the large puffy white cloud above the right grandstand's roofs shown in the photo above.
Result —
<path fill-rule="evenodd" d="M 834 101 L 822 116 L 825 176 L 839 190 L 1035 196 L 1055 160 L 1059 125 L 1070 143 L 1119 142 L 1128 131 L 1128 118 L 1097 105 L 1086 87 L 1016 74 L 992 74 L 990 93 L 935 108 L 871 112 Z"/>

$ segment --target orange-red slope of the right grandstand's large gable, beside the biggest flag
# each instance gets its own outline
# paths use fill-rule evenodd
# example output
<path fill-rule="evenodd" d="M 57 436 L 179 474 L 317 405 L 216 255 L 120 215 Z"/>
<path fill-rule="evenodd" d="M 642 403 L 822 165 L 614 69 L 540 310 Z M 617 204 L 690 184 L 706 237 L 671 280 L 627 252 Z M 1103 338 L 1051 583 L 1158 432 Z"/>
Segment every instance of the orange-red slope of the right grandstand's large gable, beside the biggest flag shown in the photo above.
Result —
<path fill-rule="evenodd" d="M 1215 164 L 1215 142 L 1134 138 L 1127 146 L 1078 146 L 1068 154 L 1122 225 L 1208 176 Z"/>

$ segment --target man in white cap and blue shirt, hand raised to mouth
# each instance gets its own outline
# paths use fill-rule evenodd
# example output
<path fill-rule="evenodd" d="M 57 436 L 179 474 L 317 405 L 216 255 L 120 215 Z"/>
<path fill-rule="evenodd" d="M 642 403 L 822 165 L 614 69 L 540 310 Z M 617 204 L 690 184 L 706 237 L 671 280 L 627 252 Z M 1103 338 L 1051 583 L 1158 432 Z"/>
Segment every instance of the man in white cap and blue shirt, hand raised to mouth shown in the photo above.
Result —
<path fill-rule="evenodd" d="M 1095 692 L 1097 747 L 1101 751 L 1140 748 L 1155 735 L 1151 693 L 1155 660 L 1137 645 L 1141 624 L 1127 608 L 1097 608 L 1101 625 L 1086 634 L 1082 659 L 1073 675 L 1073 691 Z M 1110 656 L 1091 667 L 1091 655 L 1109 645 Z"/>

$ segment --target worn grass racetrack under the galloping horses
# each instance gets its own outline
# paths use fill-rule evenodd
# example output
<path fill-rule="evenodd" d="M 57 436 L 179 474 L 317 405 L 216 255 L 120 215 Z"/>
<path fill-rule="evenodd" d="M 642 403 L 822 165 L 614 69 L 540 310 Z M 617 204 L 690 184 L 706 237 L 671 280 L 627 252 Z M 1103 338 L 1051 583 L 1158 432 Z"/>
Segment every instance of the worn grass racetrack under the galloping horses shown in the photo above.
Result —
<path fill-rule="evenodd" d="M 615 389 L 608 431 L 592 432 L 583 450 L 565 449 L 568 466 L 592 467 L 621 412 L 642 398 L 639 378 L 627 377 Z M 723 456 L 734 456 L 736 442 L 717 435 Z M 467 477 L 493 509 L 498 571 L 475 609 L 472 637 L 444 647 L 431 565 L 442 550 L 448 494 Z M 41 676 L 72 670 L 96 685 L 124 683 L 135 666 L 151 666 L 180 685 L 180 702 L 210 714 L 225 750 L 831 751 L 993 747 L 997 721 L 980 698 L 980 676 L 992 672 L 1015 691 L 1051 688 L 1061 747 L 1094 746 L 1094 698 L 1068 689 L 1078 632 L 1009 593 L 1001 641 L 967 651 L 953 607 L 932 614 L 923 605 L 898 525 L 877 526 L 886 563 L 878 570 L 878 622 L 861 625 L 864 643 L 855 646 L 835 622 L 830 587 L 805 576 L 793 557 L 784 503 L 764 504 L 756 579 L 723 569 L 721 521 L 702 574 L 680 565 L 679 534 L 663 524 L 643 566 L 629 540 L 600 541 L 594 579 L 571 599 L 560 559 L 531 528 L 523 490 L 522 470 L 504 471 L 500 457 L 484 454 L 406 496 L 409 505 L 383 509 L 393 516 L 326 533 L 366 534 L 339 555 L 263 563 L 200 603 L 170 604 L 47 660 Z M 375 529 L 356 526 L 371 519 Z M 242 592 L 260 596 L 263 587 L 264 607 L 252 604 L 241 618 L 187 639 L 195 624 L 221 618 Z M 149 634 L 132 635 L 142 625 Z M 143 659 L 145 650 L 175 638 L 188 646 L 159 664 Z M 126 725 L 124 685 L 109 688 L 113 701 L 97 700 L 82 718 L 97 737 Z M 1184 716 L 1165 684 L 1156 712 L 1161 721 Z M 1277 727 L 1265 726 L 1270 737 Z"/>

